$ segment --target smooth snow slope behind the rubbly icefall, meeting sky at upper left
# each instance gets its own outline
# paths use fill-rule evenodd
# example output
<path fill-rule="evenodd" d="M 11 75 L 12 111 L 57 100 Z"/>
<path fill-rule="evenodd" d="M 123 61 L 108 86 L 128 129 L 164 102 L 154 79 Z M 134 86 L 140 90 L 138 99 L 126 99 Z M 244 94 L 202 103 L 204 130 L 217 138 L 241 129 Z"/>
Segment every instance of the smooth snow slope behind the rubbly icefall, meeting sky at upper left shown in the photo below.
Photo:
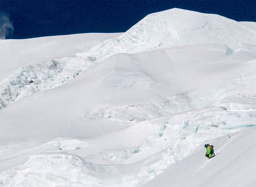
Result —
<path fill-rule="evenodd" d="M 74 57 L 78 50 L 122 33 L 87 33 L 31 39 L 0 40 L 0 81 L 19 68 L 50 59 Z"/>

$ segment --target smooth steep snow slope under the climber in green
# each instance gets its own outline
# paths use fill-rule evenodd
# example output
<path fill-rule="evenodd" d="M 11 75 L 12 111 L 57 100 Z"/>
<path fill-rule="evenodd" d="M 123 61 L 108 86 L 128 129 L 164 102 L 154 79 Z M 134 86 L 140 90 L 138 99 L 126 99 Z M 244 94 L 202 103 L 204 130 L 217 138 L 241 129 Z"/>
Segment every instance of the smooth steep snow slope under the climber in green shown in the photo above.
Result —
<path fill-rule="evenodd" d="M 231 138 L 205 141 L 189 157 L 170 165 L 144 186 L 255 186 L 255 133 L 252 128 L 234 133 Z M 211 160 L 203 154 L 208 142 L 218 154 Z"/>

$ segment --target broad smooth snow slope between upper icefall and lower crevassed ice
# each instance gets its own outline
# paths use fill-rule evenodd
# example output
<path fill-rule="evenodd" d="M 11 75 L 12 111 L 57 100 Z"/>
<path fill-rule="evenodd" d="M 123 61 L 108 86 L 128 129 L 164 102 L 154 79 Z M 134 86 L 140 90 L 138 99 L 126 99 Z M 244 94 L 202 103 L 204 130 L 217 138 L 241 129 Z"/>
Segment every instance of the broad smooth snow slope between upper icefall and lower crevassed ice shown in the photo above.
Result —
<path fill-rule="evenodd" d="M 60 87 L 29 95 L 2 109 L 0 139 L 8 142 L 36 140 L 42 134 L 40 140 L 98 135 L 108 128 L 119 129 L 116 123 L 126 126 L 138 121 L 130 121 L 136 112 L 122 117 L 122 109 L 117 115 L 124 119 L 116 122 L 105 117 L 108 113 L 104 111 L 111 107 L 117 110 L 146 105 L 143 113 L 147 120 L 208 106 L 236 93 L 255 95 L 255 53 L 239 50 L 226 55 L 225 48 L 198 45 L 113 55 Z M 186 54 L 197 55 L 188 58 Z M 170 103 L 154 112 L 155 106 L 149 104 L 164 97 L 172 102 L 172 95 L 177 94 L 182 96 L 178 96 L 181 102 L 176 106 Z M 152 115 L 148 110 L 153 111 Z M 94 128 L 89 128 L 92 125 Z"/>

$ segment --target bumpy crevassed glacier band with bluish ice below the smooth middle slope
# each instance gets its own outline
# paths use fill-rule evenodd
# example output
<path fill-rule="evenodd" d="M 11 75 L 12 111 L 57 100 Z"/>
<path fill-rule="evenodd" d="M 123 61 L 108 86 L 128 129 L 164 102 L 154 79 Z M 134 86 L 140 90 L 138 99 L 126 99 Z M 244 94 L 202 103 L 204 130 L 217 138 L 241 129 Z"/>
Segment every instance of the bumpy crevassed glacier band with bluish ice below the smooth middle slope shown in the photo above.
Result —
<path fill-rule="evenodd" d="M 228 106 L 227 103 L 232 105 Z M 255 97 L 235 95 L 212 107 L 141 121 L 123 130 L 94 138 L 58 138 L 37 145 L 25 145 L 26 148 L 20 150 L 15 150 L 13 143 L 6 143 L 1 152 L 5 153 L 7 149 L 9 153 L 1 154 L 1 161 L 5 164 L 1 165 L 3 172 L 0 181 L 4 186 L 26 186 L 35 182 L 37 186 L 141 186 L 161 174 L 169 164 L 186 158 L 199 145 L 200 148 L 195 151 L 196 157 L 202 157 L 197 161 L 198 164 L 191 164 L 190 169 L 193 166 L 200 169 L 205 164 L 202 143 L 204 145 L 211 138 L 255 126 L 254 103 Z M 242 134 L 244 132 L 241 131 Z M 241 133 L 231 135 L 232 138 L 224 145 L 220 143 L 227 139 L 226 135 L 218 141 L 211 140 L 215 152 L 218 153 Z M 248 145 L 248 148 L 244 152 L 240 151 L 240 154 L 247 154 L 247 151 L 253 154 L 253 135 L 255 128 L 250 135 L 240 138 L 246 138 L 246 142 L 239 140 L 240 145 L 235 144 L 234 148 L 230 146 L 224 156 L 237 150 L 237 147 L 242 149 L 241 145 Z M 22 147 L 20 143 L 16 146 Z M 235 154 L 232 156 L 236 158 Z M 250 157 L 250 160 L 255 158 Z M 22 162 L 24 164 L 17 164 Z M 12 169 L 6 170 L 10 166 Z M 242 168 L 252 170 L 248 165 Z M 77 175 L 77 172 L 80 174 Z M 234 180 L 234 172 L 232 174 L 230 180 Z M 247 182 L 253 183 L 253 179 L 251 177 Z"/>

